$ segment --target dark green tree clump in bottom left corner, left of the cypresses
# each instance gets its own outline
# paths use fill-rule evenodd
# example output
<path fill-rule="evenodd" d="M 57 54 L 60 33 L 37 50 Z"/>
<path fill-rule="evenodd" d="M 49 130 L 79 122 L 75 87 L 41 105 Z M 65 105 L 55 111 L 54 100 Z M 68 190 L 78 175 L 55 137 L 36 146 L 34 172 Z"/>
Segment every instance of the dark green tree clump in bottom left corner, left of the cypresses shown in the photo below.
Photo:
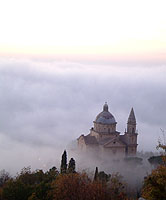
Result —
<path fill-rule="evenodd" d="M 47 197 L 51 189 L 51 182 L 56 179 L 59 172 L 53 167 L 46 173 L 42 170 L 31 172 L 30 167 L 23 168 L 17 177 L 9 179 L 0 191 L 5 200 L 52 200 Z"/>

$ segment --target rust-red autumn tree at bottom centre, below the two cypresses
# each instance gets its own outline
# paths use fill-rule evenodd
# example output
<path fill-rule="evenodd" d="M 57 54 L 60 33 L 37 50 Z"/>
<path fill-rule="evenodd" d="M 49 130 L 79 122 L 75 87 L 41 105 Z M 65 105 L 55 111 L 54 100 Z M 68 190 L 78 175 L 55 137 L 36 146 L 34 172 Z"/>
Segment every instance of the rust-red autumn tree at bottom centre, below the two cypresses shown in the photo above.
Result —
<path fill-rule="evenodd" d="M 61 174 L 52 184 L 52 200 L 107 200 L 106 188 L 86 174 Z"/>

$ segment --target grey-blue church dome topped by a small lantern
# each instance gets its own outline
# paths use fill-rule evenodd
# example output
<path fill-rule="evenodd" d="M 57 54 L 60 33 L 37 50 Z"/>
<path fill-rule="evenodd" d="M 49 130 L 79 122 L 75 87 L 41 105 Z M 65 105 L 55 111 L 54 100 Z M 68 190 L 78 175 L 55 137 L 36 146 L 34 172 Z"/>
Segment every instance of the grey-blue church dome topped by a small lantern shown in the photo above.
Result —
<path fill-rule="evenodd" d="M 95 122 L 101 124 L 116 123 L 114 116 L 108 111 L 107 103 L 104 104 L 103 111 L 97 115 Z"/>

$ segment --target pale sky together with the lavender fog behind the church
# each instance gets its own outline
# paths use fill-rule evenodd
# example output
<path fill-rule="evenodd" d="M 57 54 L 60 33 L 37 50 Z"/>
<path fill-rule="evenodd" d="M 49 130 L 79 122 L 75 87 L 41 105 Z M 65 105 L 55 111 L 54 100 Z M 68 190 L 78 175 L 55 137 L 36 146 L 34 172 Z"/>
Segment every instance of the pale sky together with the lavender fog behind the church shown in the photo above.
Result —
<path fill-rule="evenodd" d="M 107 101 L 138 150 L 166 130 L 164 0 L 0 1 L 1 167 L 48 169 Z M 72 155 L 70 155 L 72 156 Z"/>

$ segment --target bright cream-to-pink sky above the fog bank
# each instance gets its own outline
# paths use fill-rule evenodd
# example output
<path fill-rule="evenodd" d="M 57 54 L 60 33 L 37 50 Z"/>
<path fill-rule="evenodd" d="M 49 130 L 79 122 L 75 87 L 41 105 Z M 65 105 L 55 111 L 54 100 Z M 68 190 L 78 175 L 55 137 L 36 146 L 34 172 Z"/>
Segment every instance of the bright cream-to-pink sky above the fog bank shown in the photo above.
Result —
<path fill-rule="evenodd" d="M 165 61 L 165 0 L 1 0 L 0 55 Z"/>

